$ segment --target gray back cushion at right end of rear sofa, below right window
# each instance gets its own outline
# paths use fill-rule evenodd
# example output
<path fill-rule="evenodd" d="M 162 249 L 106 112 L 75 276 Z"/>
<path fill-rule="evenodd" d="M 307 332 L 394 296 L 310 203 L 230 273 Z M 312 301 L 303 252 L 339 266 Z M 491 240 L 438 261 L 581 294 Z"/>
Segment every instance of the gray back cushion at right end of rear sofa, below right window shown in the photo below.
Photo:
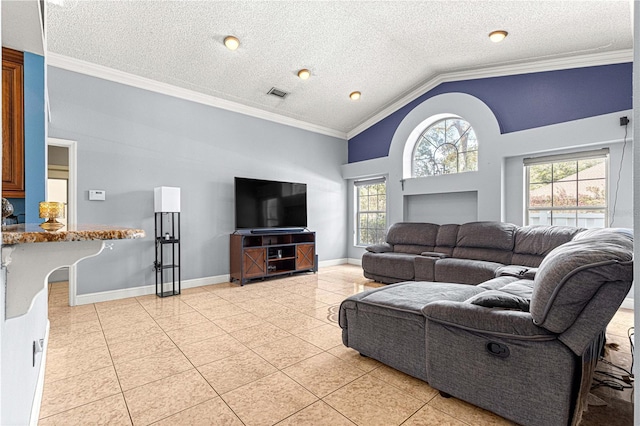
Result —
<path fill-rule="evenodd" d="M 551 250 L 573 239 L 582 229 L 570 226 L 524 226 L 516 229 L 511 263 L 539 266 Z"/>

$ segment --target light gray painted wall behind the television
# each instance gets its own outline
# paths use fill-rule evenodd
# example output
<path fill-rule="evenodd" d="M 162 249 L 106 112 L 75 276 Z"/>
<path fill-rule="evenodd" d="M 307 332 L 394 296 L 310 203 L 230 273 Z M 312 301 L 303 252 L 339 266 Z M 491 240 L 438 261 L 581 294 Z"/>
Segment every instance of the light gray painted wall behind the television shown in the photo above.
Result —
<path fill-rule="evenodd" d="M 346 257 L 345 140 L 54 67 L 48 87 L 49 136 L 78 141 L 78 223 L 147 233 L 80 263 L 78 294 L 155 282 L 158 186 L 181 188 L 183 280 L 229 273 L 234 176 L 306 183 L 320 261 Z"/>

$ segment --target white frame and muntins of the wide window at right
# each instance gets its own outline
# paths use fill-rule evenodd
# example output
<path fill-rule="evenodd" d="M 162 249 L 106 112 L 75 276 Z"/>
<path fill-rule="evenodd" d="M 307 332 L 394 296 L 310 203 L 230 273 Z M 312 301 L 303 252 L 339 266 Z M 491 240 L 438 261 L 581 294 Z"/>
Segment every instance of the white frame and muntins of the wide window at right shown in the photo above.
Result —
<path fill-rule="evenodd" d="M 604 160 L 604 164 L 605 164 L 605 171 L 604 171 L 604 186 L 605 186 L 605 190 L 606 190 L 606 194 L 605 194 L 605 205 L 604 207 L 593 207 L 593 206 L 579 206 L 579 199 L 577 199 L 577 204 L 575 206 L 562 206 L 562 207 L 554 207 L 554 206 L 550 206 L 550 207 L 530 207 L 530 183 L 531 183 L 531 176 L 529 173 L 530 170 L 530 166 L 534 166 L 534 165 L 541 165 L 541 164 L 554 164 L 554 163 L 561 163 L 561 162 L 568 162 L 568 161 L 581 161 L 581 160 L 592 160 L 592 159 L 603 159 Z M 523 223 L 525 225 L 529 225 L 529 216 L 530 216 L 530 212 L 535 212 L 535 211 L 551 211 L 551 224 L 555 225 L 553 223 L 553 212 L 561 212 L 561 211 L 575 211 L 576 212 L 576 225 L 575 226 L 579 226 L 578 223 L 578 215 L 580 211 L 593 211 L 593 210 L 602 210 L 604 212 L 604 227 L 607 228 L 609 227 L 609 205 L 610 205 L 610 176 L 609 176 L 609 161 L 610 161 L 610 156 L 609 156 L 609 149 L 608 148 L 603 148 L 603 149 L 599 149 L 599 150 L 593 150 L 593 151 L 581 151 L 581 152 L 574 152 L 574 153 L 567 153 L 567 154 L 559 154 L 559 155 L 548 155 L 548 156 L 543 156 L 543 157 L 531 157 L 531 158 L 525 158 L 523 160 L 523 172 L 524 172 L 524 192 L 525 192 L 525 197 L 524 197 L 524 221 Z M 579 173 L 579 171 L 578 171 Z M 584 180 L 589 180 L 589 179 L 584 179 Z M 578 179 L 576 177 L 576 183 L 579 184 L 579 182 L 581 182 L 580 179 Z M 553 184 L 556 182 L 549 182 L 551 186 L 551 197 L 553 200 Z M 578 193 L 577 193 L 578 194 Z M 553 203 L 553 201 L 552 201 Z"/>

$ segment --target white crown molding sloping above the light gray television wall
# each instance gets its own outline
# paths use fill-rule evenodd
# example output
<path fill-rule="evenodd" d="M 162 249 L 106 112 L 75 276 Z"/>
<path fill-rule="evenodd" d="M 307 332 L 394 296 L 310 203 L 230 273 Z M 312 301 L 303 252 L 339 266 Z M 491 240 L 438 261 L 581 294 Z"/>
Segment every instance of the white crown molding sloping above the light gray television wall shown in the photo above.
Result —
<path fill-rule="evenodd" d="M 295 118 L 287 117 L 281 114 L 264 111 L 259 108 L 250 107 L 237 102 L 228 101 L 225 99 L 217 98 L 215 96 L 206 95 L 167 83 L 162 83 L 146 77 L 140 77 L 124 71 L 119 71 L 102 65 L 93 64 L 91 62 L 86 62 L 68 56 L 60 55 L 58 53 L 47 52 L 45 56 L 47 65 L 50 65 L 52 67 L 85 74 L 91 77 L 101 78 L 103 80 L 113 81 L 115 83 L 125 84 L 127 86 L 136 87 L 138 89 L 161 93 L 163 95 L 196 102 L 227 111 L 237 112 L 239 114 L 248 115 L 250 117 L 260 118 L 263 120 L 284 124 L 286 126 L 296 127 L 302 130 L 308 130 L 310 132 L 319 133 L 326 136 L 332 136 L 345 140 L 347 139 L 347 134 L 345 132 L 308 123 L 302 120 L 297 120 Z"/>

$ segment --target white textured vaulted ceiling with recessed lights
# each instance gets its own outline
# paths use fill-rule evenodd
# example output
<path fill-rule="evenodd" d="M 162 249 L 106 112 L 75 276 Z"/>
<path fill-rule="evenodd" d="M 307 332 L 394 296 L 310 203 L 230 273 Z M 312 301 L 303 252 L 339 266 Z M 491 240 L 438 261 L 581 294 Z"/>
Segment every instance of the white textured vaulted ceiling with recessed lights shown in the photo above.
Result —
<path fill-rule="evenodd" d="M 629 1 L 67 0 L 47 30 L 49 52 L 344 133 L 443 73 L 633 47 Z"/>

